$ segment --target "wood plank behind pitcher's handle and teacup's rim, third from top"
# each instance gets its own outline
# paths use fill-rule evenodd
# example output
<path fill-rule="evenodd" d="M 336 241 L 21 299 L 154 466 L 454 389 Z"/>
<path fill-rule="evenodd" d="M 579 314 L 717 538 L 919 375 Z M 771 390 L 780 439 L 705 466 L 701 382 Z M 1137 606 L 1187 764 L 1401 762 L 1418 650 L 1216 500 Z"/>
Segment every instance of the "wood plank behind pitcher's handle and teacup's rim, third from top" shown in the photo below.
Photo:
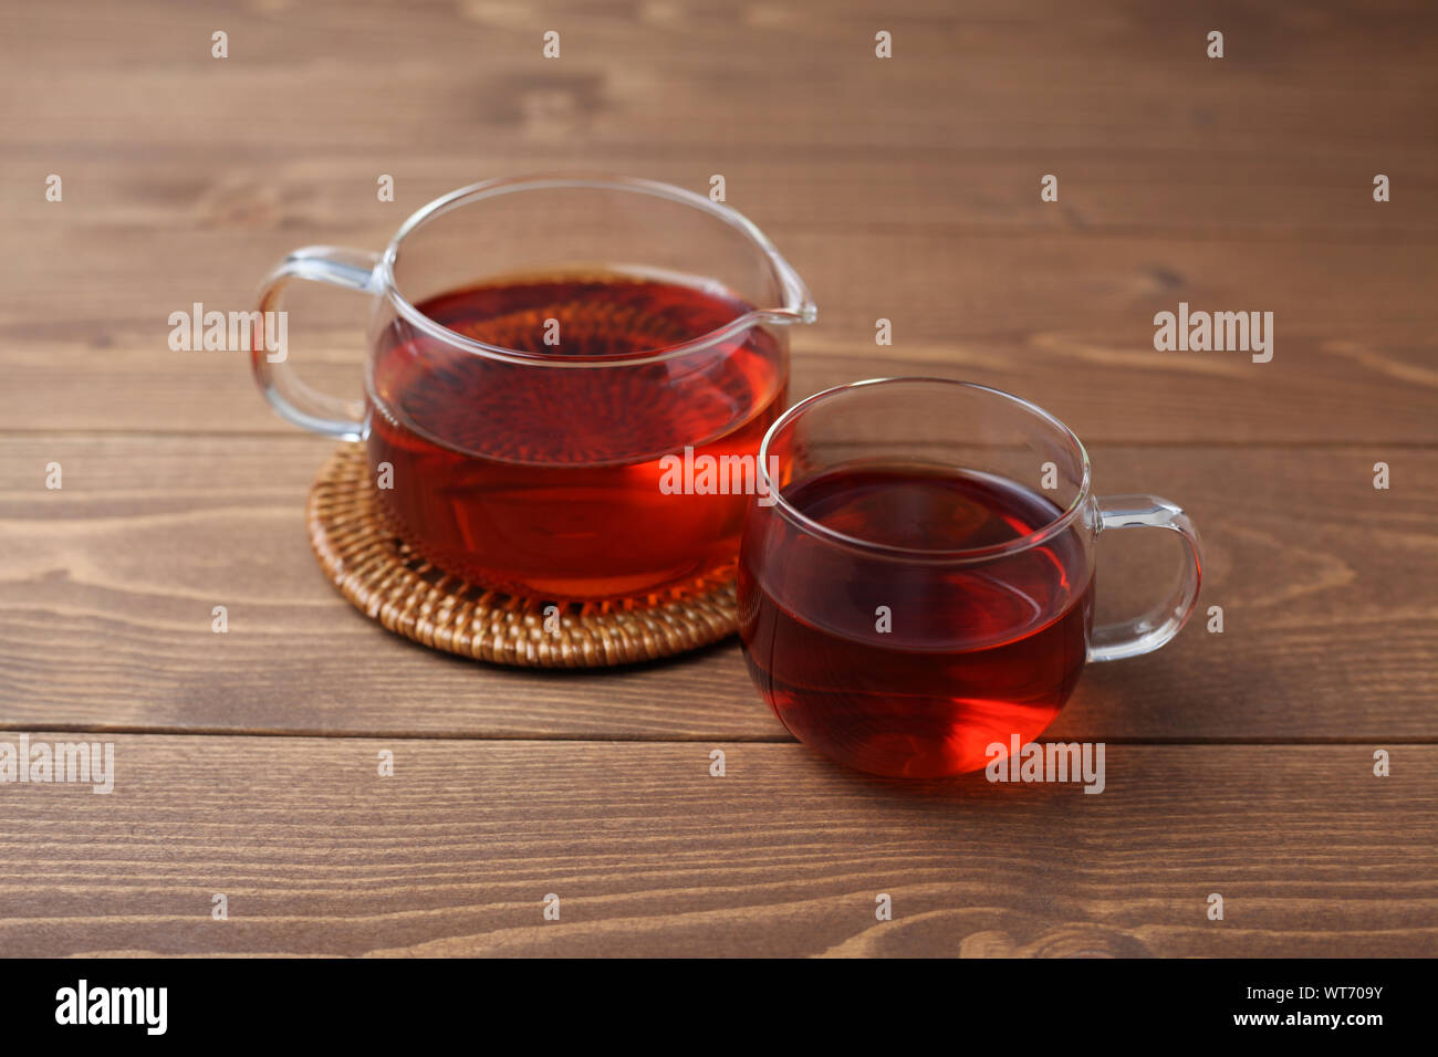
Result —
<path fill-rule="evenodd" d="M 24 269 L 19 257 L 0 265 L 26 272 L 0 283 L 9 332 L 0 423 L 286 431 L 253 391 L 246 357 L 173 352 L 167 319 L 196 301 L 247 309 L 250 283 L 296 240 L 233 253 L 233 232 L 191 234 L 186 255 L 144 273 L 129 266 L 125 242 L 88 243 L 96 275 L 129 269 L 129 278 L 96 286 L 81 305 L 66 302 L 69 257 L 85 249 L 79 233 L 55 252 L 26 255 Z M 795 233 L 781 243 L 821 311 L 817 326 L 794 334 L 795 395 L 866 377 L 943 374 L 1037 400 L 1090 443 L 1438 443 L 1438 309 L 1412 293 L 1438 282 L 1431 247 L 907 229 Z M 1179 302 L 1274 312 L 1273 361 L 1155 351 L 1153 315 Z M 305 290 L 292 311 L 301 374 L 358 394 L 362 299 Z M 892 347 L 874 345 L 877 318 L 893 321 Z"/>

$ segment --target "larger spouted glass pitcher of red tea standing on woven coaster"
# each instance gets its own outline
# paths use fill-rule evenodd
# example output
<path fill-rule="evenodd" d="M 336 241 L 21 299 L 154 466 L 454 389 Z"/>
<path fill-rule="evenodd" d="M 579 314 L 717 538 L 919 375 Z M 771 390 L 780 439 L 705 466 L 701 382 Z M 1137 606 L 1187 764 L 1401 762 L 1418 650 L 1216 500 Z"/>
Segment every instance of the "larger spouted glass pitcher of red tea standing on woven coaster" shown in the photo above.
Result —
<path fill-rule="evenodd" d="M 364 441 L 413 549 L 486 587 L 555 600 L 651 594 L 732 562 L 743 496 L 661 488 L 672 457 L 754 459 L 785 403 L 788 328 L 815 308 L 733 210 L 643 180 L 475 184 L 384 253 L 306 247 L 265 280 L 372 298 L 367 398 L 253 352 L 272 406 Z"/>

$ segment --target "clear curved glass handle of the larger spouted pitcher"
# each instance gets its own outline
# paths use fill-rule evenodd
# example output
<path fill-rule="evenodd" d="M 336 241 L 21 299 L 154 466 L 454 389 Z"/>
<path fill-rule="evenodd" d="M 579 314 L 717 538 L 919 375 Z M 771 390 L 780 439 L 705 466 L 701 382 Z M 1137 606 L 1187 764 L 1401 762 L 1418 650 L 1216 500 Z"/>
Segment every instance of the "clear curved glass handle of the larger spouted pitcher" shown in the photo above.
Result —
<path fill-rule="evenodd" d="M 260 312 L 275 312 L 290 279 L 342 286 L 361 293 L 378 293 L 380 255 L 338 246 L 305 246 L 285 257 L 260 283 Z M 262 315 L 262 319 L 269 316 Z M 255 381 L 282 418 L 315 433 L 342 440 L 364 440 L 364 403 L 318 393 L 290 370 L 288 351 L 270 352 L 265 332 L 255 332 L 250 362 Z"/>

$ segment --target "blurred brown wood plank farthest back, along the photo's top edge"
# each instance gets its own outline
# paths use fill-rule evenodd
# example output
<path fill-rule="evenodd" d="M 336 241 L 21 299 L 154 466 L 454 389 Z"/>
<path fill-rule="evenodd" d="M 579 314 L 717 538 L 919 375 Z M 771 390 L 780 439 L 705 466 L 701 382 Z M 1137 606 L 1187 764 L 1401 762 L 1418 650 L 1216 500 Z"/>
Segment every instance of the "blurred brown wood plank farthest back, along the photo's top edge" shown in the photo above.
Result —
<path fill-rule="evenodd" d="M 801 6 L 546 4 L 433 0 L 357 14 L 338 1 L 226 12 L 76 4 L 65 22 L 13 13 L 7 68 L 46 78 L 14 118 L 17 144 L 184 138 L 227 151 L 357 141 L 463 141 L 473 125 L 557 141 L 661 141 L 794 150 L 962 142 L 1188 148 L 1195 134 L 1251 148 L 1343 151 L 1408 139 L 1429 115 L 1431 10 L 1360 3 L 1222 13 L 1229 55 L 1205 58 L 1206 12 L 1060 0 Z M 217 22 L 230 58 L 210 58 Z M 892 60 L 874 32 L 896 33 Z M 116 35 L 142 27 L 141 42 Z M 562 58 L 541 35 L 565 35 Z M 63 47 L 63 69 L 47 60 Z M 617 60 L 620 59 L 620 60 Z M 349 69 L 385 72 L 355 105 Z M 1373 70 L 1383 76 L 1375 78 Z M 114 79 L 125 76 L 125 121 Z M 758 119 L 758 118 L 769 119 Z M 177 129 L 177 121 L 183 128 Z M 224 119 L 217 119 L 224 118 Z M 472 148 L 466 145 L 466 152 Z"/>

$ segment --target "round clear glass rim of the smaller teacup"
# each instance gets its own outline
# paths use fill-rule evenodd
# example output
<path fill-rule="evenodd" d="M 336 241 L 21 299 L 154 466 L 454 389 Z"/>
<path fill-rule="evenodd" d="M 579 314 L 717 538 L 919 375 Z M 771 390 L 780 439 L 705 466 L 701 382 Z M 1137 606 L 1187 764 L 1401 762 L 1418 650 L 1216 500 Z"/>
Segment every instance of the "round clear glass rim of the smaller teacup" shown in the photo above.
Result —
<path fill-rule="evenodd" d="M 769 463 L 769 444 L 779 434 L 781 430 L 798 421 L 805 411 L 818 403 L 825 403 L 834 397 L 858 388 L 870 388 L 879 385 L 933 385 L 933 387 L 956 387 L 961 390 L 968 390 L 971 393 L 982 393 L 988 397 L 997 397 L 998 400 L 1009 404 L 1011 407 L 1022 408 L 1024 411 L 1040 418 L 1043 423 L 1050 426 L 1058 436 L 1061 436 L 1077 453 L 1080 465 L 1083 466 L 1083 480 L 1078 483 L 1078 490 L 1073 500 L 1066 506 L 1058 515 L 1055 515 L 1047 523 L 1025 532 L 1015 539 L 1009 539 L 1002 544 L 991 544 L 989 546 L 968 546 L 958 549 L 936 549 L 936 548 L 913 548 L 913 546 L 894 546 L 892 544 L 879 544 L 871 539 L 863 539 L 860 536 L 851 536 L 846 532 L 838 532 L 821 525 L 808 515 L 800 512 L 792 503 L 789 503 L 784 493 L 779 490 L 778 485 L 769 479 L 768 463 Z M 1054 538 L 1064 529 L 1067 529 L 1073 521 L 1080 515 L 1089 502 L 1089 496 L 1093 490 L 1093 467 L 1089 463 L 1089 452 L 1078 440 L 1078 436 L 1068 429 L 1063 421 L 1060 421 L 1054 414 L 1045 411 L 1038 404 L 1024 400 L 1022 397 L 1014 395 L 992 385 L 979 385 L 972 381 L 959 381 L 958 378 L 939 378 L 933 375 L 899 375 L 892 378 L 864 378 L 861 381 L 850 381 L 843 385 L 834 385 L 827 390 L 821 390 L 811 397 L 805 397 L 800 403 L 794 404 L 789 410 L 774 420 L 768 431 L 764 434 L 764 440 L 759 443 L 758 465 L 755 466 L 756 475 L 756 490 L 759 495 L 768 495 L 774 498 L 774 508 L 778 509 L 784 516 L 798 525 L 801 529 L 817 535 L 823 539 L 841 544 L 848 548 L 863 551 L 866 554 L 877 554 L 890 558 L 902 558 L 909 561 L 932 561 L 932 562 L 971 562 L 971 561 L 986 561 L 989 558 L 1001 558 L 1009 554 L 1020 554 L 1028 551 L 1040 544 Z"/>

